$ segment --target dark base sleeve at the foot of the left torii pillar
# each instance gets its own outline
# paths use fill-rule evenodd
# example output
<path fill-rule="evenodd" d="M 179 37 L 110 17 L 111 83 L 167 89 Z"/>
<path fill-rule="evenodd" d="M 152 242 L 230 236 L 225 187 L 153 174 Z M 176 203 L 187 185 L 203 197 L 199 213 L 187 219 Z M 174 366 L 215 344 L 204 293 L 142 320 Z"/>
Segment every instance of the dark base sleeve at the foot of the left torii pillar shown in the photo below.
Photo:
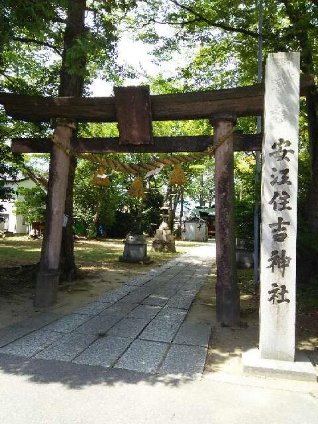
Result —
<path fill-rule="evenodd" d="M 45 308 L 56 302 L 60 274 L 59 271 L 39 271 L 36 276 L 34 306 Z"/>

